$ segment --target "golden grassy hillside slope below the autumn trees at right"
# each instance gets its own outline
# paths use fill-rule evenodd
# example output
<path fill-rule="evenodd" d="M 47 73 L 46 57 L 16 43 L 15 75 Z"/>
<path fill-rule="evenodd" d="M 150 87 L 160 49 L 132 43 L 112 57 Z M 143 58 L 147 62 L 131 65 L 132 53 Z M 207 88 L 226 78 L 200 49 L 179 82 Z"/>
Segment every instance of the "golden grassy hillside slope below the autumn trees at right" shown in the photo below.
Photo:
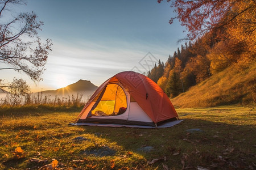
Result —
<path fill-rule="evenodd" d="M 239 70 L 230 66 L 187 92 L 171 99 L 175 107 L 214 107 L 229 104 L 255 104 L 256 66 Z"/>

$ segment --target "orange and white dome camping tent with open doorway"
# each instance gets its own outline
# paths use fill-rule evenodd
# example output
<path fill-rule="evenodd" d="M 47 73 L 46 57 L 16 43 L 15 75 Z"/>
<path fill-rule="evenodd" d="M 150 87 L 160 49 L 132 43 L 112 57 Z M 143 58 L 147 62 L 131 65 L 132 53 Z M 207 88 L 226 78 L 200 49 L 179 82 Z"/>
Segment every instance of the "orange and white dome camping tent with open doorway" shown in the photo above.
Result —
<path fill-rule="evenodd" d="M 72 125 L 164 128 L 179 122 L 162 88 L 145 75 L 124 71 L 97 88 Z"/>

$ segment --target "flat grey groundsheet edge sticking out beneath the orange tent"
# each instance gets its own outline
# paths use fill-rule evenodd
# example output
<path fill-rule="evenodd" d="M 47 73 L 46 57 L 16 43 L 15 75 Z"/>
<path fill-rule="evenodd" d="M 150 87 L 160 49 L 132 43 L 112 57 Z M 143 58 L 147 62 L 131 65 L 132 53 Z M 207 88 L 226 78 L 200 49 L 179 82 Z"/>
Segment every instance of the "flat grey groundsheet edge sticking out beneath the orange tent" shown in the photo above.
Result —
<path fill-rule="evenodd" d="M 75 126 L 102 126 L 102 127 L 129 127 L 129 128 L 147 128 L 147 129 L 155 129 L 155 128 L 170 128 L 174 125 L 179 124 L 183 120 L 175 120 L 171 122 L 166 122 L 164 124 L 161 124 L 157 127 L 155 126 L 141 126 L 141 125 L 119 125 L 119 124 L 93 124 L 93 123 L 76 123 L 76 124 L 69 124 L 69 125 L 75 125 Z"/>

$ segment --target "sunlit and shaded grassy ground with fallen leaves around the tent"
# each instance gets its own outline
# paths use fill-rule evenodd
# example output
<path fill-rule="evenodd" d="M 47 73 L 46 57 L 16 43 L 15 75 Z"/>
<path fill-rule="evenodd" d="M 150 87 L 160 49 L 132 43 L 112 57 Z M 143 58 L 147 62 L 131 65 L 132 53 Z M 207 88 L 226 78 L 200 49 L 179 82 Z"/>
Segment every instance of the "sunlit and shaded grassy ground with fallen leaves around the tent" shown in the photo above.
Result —
<path fill-rule="evenodd" d="M 177 109 L 184 121 L 166 129 L 68 125 L 79 109 L 1 110 L 0 169 L 256 169 L 256 108 Z"/>

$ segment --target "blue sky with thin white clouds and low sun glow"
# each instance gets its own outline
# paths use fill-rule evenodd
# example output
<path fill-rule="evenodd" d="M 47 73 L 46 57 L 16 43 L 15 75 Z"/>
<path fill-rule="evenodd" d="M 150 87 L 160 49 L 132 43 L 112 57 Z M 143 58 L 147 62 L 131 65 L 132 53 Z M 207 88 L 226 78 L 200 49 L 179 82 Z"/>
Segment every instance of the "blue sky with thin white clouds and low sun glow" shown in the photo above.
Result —
<path fill-rule="evenodd" d="M 80 79 L 100 86 L 121 71 L 144 73 L 159 59 L 166 62 L 185 36 L 179 22 L 168 23 L 175 14 L 165 1 L 27 0 L 17 10 L 34 11 L 44 22 L 39 36 L 53 42 L 43 81 L 11 70 L 0 73 L 9 82 L 23 78 L 32 91 L 56 90 Z"/>

